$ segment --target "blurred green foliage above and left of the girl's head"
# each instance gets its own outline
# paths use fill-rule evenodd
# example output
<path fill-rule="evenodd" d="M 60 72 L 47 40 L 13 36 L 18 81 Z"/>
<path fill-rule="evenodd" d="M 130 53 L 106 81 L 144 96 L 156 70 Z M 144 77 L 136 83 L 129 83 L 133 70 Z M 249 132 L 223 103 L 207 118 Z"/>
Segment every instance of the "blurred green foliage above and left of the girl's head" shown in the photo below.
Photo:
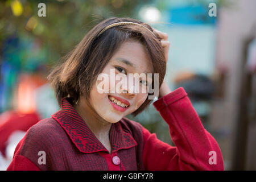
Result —
<path fill-rule="evenodd" d="M 23 39 L 36 39 L 47 50 L 45 63 L 55 64 L 71 51 L 94 25 L 116 17 L 137 18 L 137 8 L 151 0 L 87 1 L 18 1 L 22 14 L 15 16 L 12 3 L 0 1 L 0 48 L 3 40 L 14 34 Z M 39 3 L 46 4 L 46 17 L 39 17 Z M 18 9 L 19 7 L 16 7 Z"/>

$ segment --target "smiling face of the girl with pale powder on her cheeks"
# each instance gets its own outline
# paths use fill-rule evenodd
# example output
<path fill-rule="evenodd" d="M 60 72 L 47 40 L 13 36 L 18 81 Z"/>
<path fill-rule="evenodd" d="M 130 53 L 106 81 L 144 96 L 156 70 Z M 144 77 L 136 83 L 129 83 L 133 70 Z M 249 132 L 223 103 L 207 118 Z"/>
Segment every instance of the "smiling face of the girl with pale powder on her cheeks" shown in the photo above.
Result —
<path fill-rule="evenodd" d="M 110 71 L 112 71 L 112 77 L 110 77 Z M 117 80 L 113 77 L 113 72 L 115 76 L 120 73 L 124 74 L 123 76 L 126 75 L 127 89 L 123 89 L 125 87 L 122 85 L 117 86 L 118 82 L 121 82 L 121 80 Z M 115 123 L 120 121 L 120 119 L 126 115 L 137 110 L 147 99 L 148 91 L 145 88 L 147 88 L 147 84 L 151 84 L 152 80 L 147 80 L 148 77 L 146 77 L 146 79 L 139 77 L 139 85 L 136 85 L 135 79 L 133 78 L 133 84 L 130 84 L 129 77 L 131 74 L 129 75 L 129 73 L 138 73 L 138 75 L 141 73 L 146 75 L 147 73 L 152 73 L 152 67 L 146 53 L 146 48 L 143 44 L 134 40 L 123 43 L 102 71 L 101 75 L 105 75 L 109 78 L 109 86 L 103 86 L 104 90 L 108 92 L 100 92 L 99 81 L 95 82 L 90 90 L 90 105 L 97 114 L 107 122 Z M 113 81 L 112 84 L 110 84 L 110 80 Z M 114 93 L 110 92 L 113 86 Z M 146 92 L 142 92 L 143 87 Z M 137 90 L 137 93 L 135 93 L 135 90 Z"/>

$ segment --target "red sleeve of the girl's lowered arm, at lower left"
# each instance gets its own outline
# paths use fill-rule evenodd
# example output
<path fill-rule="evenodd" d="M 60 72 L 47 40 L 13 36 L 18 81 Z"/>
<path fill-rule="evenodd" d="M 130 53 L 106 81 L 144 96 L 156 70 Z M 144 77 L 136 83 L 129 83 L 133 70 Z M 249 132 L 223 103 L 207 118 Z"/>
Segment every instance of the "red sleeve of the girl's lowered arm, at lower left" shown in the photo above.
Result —
<path fill-rule="evenodd" d="M 9 167 L 6 171 L 40 171 L 40 169 L 27 159 L 25 156 L 20 155 L 20 150 L 24 144 L 27 134 L 20 140 L 18 145 L 15 148 L 13 160 L 11 161 Z"/>

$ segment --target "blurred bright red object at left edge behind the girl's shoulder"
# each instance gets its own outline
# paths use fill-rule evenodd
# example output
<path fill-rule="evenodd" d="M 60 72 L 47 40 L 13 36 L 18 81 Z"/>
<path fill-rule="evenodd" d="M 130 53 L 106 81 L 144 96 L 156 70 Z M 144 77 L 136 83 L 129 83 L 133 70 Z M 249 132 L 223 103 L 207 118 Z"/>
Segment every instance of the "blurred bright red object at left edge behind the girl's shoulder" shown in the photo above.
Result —
<path fill-rule="evenodd" d="M 20 113 L 18 111 L 6 111 L 0 115 L 0 151 L 4 156 L 7 141 L 10 135 L 16 131 L 27 131 L 40 120 L 39 114 Z"/>

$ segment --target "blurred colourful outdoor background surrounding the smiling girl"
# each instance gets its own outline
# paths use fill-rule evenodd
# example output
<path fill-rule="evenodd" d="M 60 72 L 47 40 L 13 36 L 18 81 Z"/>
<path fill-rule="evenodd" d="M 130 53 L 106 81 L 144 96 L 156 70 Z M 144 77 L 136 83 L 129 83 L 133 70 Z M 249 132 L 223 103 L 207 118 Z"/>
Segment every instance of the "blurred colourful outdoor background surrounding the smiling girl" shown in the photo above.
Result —
<path fill-rule="evenodd" d="M 168 85 L 184 87 L 217 140 L 226 170 L 255 170 L 255 8 L 254 0 L 0 1 L 0 170 L 27 129 L 59 110 L 46 81 L 51 68 L 112 16 L 139 19 L 168 34 Z M 154 106 L 128 118 L 174 145 Z"/>

